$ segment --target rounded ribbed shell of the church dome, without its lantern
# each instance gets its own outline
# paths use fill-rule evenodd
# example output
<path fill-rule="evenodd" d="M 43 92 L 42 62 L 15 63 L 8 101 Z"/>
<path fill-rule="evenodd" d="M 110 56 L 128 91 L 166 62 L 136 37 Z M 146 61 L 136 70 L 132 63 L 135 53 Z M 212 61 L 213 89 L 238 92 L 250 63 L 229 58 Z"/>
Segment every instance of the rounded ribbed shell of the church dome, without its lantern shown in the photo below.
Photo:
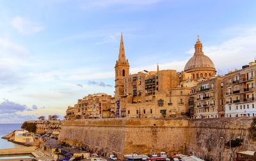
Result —
<path fill-rule="evenodd" d="M 192 72 L 196 70 L 216 71 L 212 60 L 204 54 L 194 54 L 194 56 L 189 59 L 188 63 L 186 63 L 186 66 L 184 68 L 185 72 Z"/>

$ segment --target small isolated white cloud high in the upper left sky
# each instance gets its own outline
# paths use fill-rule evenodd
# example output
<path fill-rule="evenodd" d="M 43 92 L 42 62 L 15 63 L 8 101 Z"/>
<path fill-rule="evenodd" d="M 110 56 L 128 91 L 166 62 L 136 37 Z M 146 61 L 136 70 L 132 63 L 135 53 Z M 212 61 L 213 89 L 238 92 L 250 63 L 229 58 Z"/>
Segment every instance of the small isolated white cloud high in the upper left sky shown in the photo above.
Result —
<path fill-rule="evenodd" d="M 20 16 L 14 17 L 11 24 L 22 35 L 35 34 L 45 29 L 45 26 L 38 22 L 32 22 Z"/>

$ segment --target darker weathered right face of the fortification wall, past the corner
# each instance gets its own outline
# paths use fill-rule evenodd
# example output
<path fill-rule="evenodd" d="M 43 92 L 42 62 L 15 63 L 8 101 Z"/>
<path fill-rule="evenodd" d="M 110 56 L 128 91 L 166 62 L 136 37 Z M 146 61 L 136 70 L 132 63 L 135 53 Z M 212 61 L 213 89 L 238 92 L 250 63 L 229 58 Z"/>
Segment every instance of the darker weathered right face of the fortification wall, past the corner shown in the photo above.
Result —
<path fill-rule="evenodd" d="M 191 119 L 188 128 L 186 152 L 205 160 L 228 160 L 229 149 L 225 143 L 240 137 L 243 146 L 238 151 L 256 150 L 248 134 L 252 118 Z M 223 138 L 221 138 L 223 137 Z"/>

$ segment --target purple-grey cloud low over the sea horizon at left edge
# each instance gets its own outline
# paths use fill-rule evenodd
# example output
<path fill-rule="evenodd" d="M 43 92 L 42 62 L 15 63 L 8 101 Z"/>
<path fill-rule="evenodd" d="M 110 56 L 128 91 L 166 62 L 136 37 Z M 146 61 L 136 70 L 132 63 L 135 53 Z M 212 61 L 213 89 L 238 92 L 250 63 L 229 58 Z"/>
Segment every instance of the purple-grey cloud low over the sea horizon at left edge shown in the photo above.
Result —
<path fill-rule="evenodd" d="M 27 105 L 17 104 L 15 102 L 4 99 L 4 102 L 0 104 L 0 114 L 13 114 L 15 112 L 33 111 L 33 109 L 35 110 L 35 107 L 36 105 L 33 105 L 32 109 L 29 109 Z"/>

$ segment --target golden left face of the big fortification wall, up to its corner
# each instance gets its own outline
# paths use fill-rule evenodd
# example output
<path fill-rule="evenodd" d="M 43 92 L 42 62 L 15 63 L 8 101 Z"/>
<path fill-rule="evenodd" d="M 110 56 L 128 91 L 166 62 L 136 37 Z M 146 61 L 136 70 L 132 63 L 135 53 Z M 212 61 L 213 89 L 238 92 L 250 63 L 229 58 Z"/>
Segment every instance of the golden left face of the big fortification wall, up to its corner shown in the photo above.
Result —
<path fill-rule="evenodd" d="M 184 151 L 188 119 L 84 119 L 63 121 L 59 142 L 85 146 L 122 158 L 133 152 L 150 154 Z M 178 138 L 178 139 L 177 139 Z M 180 138 L 180 139 L 179 139 Z M 185 138 L 185 139 L 184 139 Z"/>

